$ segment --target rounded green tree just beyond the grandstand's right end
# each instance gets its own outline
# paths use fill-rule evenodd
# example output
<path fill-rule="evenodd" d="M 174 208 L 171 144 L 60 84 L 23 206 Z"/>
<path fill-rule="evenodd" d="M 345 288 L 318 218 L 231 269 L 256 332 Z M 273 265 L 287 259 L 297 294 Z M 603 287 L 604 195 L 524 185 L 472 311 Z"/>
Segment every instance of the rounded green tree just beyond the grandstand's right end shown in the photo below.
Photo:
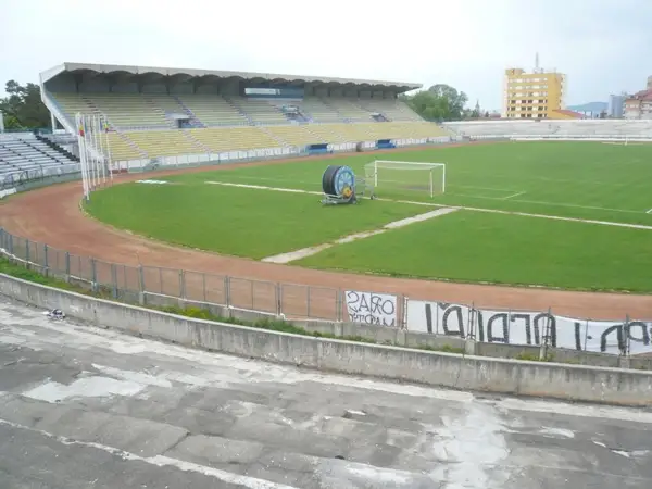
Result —
<path fill-rule="evenodd" d="M 449 85 L 432 85 L 427 90 L 401 98 L 412 110 L 428 121 L 460 121 L 468 97 Z"/>

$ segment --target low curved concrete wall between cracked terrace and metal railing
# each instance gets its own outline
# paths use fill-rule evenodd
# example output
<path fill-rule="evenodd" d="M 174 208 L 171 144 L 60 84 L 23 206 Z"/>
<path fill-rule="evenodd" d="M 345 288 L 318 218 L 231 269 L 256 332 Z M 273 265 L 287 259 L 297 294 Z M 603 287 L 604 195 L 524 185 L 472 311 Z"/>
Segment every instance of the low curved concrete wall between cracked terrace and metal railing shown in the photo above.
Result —
<path fill-rule="evenodd" d="M 652 373 L 459 355 L 192 319 L 0 274 L 0 293 L 125 333 L 342 374 L 503 394 L 652 406 Z"/>

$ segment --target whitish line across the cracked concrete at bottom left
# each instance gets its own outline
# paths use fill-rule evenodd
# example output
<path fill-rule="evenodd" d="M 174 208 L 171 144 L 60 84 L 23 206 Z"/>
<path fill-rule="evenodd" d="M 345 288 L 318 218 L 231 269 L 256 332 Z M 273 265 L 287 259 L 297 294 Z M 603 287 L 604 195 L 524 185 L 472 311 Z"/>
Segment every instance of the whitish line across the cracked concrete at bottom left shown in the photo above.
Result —
<path fill-rule="evenodd" d="M 240 486 L 248 489 L 298 489 L 293 486 L 287 486 L 285 484 L 272 482 L 269 480 L 258 479 L 255 477 L 249 477 L 240 474 L 234 474 L 230 472 L 222 471 L 220 468 L 213 468 L 205 465 L 199 465 L 192 462 L 185 462 L 177 459 L 172 459 L 165 455 L 155 455 L 155 456 L 140 456 L 136 453 L 126 452 L 124 450 L 117 449 L 115 447 L 109 447 L 102 443 L 97 443 L 93 441 L 80 441 L 75 440 L 73 438 L 67 438 L 59 435 L 51 434 L 49 431 L 45 431 L 42 429 L 30 428 L 29 426 L 21 425 L 18 423 L 12 423 L 7 419 L 0 419 L 0 425 L 10 426 L 14 429 L 21 429 L 29 432 L 38 434 L 42 437 L 49 438 L 51 440 L 55 440 L 64 446 L 77 446 L 86 449 L 96 449 L 102 450 L 103 452 L 111 453 L 114 456 L 118 456 L 125 461 L 135 461 L 135 462 L 145 462 L 150 465 L 154 465 L 158 467 L 176 467 L 183 472 L 195 472 L 197 474 L 202 474 L 206 477 L 212 477 L 216 480 L 220 480 L 225 484 Z"/>

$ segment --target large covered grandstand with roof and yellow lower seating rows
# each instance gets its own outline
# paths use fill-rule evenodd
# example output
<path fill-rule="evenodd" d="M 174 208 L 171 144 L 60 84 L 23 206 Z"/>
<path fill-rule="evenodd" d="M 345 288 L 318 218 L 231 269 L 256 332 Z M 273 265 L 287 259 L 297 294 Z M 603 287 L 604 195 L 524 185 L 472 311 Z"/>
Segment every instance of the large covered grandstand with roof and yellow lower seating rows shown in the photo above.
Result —
<path fill-rule="evenodd" d="M 78 113 L 106 122 L 112 162 L 312 154 L 451 136 L 399 100 L 422 87 L 414 83 L 64 63 L 41 73 L 40 86 L 53 127 L 76 134 Z"/>

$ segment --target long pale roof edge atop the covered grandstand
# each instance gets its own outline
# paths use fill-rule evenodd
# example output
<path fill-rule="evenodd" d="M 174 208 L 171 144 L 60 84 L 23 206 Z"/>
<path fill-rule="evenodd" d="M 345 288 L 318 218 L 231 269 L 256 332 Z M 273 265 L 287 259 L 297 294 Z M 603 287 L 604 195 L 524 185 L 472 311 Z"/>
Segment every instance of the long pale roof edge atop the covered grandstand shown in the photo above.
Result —
<path fill-rule="evenodd" d="M 41 83 L 57 77 L 62 73 L 75 74 L 96 74 L 96 75 L 116 75 L 124 77 L 134 77 L 147 80 L 155 80 L 162 77 L 174 77 L 178 80 L 188 80 L 192 78 L 240 78 L 251 82 L 285 82 L 290 85 L 302 85 L 305 83 L 317 85 L 354 85 L 365 86 L 369 88 L 392 89 L 397 92 L 414 90 L 422 88 L 422 84 L 403 83 L 403 82 L 381 82 L 372 79 L 354 79 L 354 78 L 335 78 L 327 76 L 303 76 L 303 75 L 280 75 L 274 73 L 247 73 L 247 72 L 227 72 L 213 70 L 190 70 L 190 68 L 172 68 L 172 67 L 154 67 L 154 66 L 130 66 L 117 64 L 92 64 L 92 63 L 63 63 L 47 70 L 40 74 Z"/>

